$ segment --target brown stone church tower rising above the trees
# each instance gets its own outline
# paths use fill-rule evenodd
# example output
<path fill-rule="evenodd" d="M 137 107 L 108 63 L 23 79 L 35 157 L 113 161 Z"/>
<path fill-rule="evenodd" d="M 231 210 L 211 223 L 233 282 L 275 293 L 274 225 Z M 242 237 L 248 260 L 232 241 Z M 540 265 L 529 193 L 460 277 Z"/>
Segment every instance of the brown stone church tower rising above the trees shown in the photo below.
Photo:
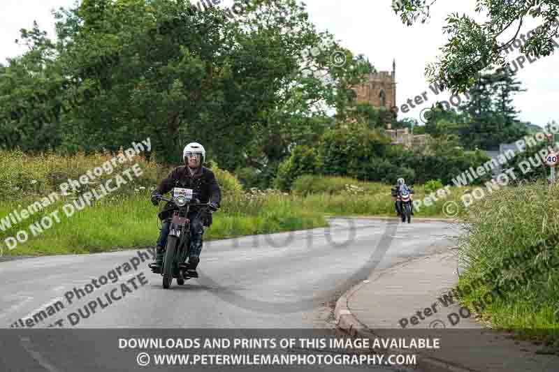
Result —
<path fill-rule="evenodd" d="M 369 75 L 368 80 L 354 88 L 357 103 L 370 103 L 373 107 L 391 107 L 396 105 L 396 61 L 392 61 L 392 73 L 379 71 Z"/>

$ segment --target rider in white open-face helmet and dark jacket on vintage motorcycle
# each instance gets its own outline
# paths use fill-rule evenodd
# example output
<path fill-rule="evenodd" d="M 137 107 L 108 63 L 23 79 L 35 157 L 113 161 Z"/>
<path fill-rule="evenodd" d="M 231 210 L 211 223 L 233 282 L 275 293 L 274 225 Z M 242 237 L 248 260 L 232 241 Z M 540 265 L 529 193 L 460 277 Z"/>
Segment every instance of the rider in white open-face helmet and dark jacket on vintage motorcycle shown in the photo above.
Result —
<path fill-rule="evenodd" d="M 191 188 L 196 194 L 194 198 L 200 202 L 210 202 L 210 209 L 216 211 L 219 209 L 219 203 L 222 200 L 221 189 L 217 184 L 217 179 L 212 170 L 203 167 L 205 161 L 205 149 L 197 143 L 191 142 L 184 147 L 182 151 L 182 160 L 184 165 L 175 168 L 170 172 L 168 177 L 161 181 L 161 184 L 152 192 L 152 203 L 157 206 L 161 201 L 161 195 L 168 193 L 175 187 Z M 164 210 L 159 214 L 162 221 L 161 232 L 157 239 L 157 249 L 155 262 L 150 267 L 162 267 L 167 243 L 167 235 L 169 233 L 171 216 L 173 216 L 174 203 L 168 202 Z M 189 252 L 189 265 L 187 271 L 191 276 L 197 277 L 196 267 L 200 262 L 200 253 L 202 251 L 202 235 L 204 226 L 209 227 L 212 224 L 211 214 L 201 214 L 201 209 L 205 207 L 190 207 L 187 218 L 190 219 L 191 246 Z"/>

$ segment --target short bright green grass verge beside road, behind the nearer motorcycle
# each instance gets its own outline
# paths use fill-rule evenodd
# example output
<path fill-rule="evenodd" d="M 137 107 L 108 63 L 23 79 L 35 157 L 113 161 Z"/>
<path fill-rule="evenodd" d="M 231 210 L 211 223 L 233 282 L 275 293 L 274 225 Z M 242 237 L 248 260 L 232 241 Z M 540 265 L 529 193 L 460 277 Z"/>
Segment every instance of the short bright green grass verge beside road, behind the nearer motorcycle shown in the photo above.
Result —
<path fill-rule="evenodd" d="M 57 204 L 51 204 L 41 214 L 31 216 L 29 220 L 3 232 L 5 237 L 13 237 L 20 230 L 25 230 L 29 235 L 27 241 L 17 243 L 13 250 L 9 250 L 2 239 L 3 253 L 5 255 L 55 255 L 154 246 L 159 235 L 158 209 L 153 207 L 149 200 L 147 192 L 127 197 L 101 199 L 92 207 L 86 206 L 80 211 L 75 211 L 71 216 L 66 216 L 63 209 L 63 205 L 71 199 L 61 200 Z M 326 220 L 321 213 L 304 210 L 286 196 L 260 197 L 252 207 L 248 203 L 245 201 L 243 207 L 250 208 L 252 210 L 250 214 L 243 211 L 222 214 L 218 211 L 204 239 L 266 234 L 326 225 Z M 22 201 L 17 204 L 27 205 Z M 233 203 L 230 200 L 224 205 L 224 209 L 227 207 L 233 209 L 234 206 L 231 204 Z M 0 207 L 0 216 L 6 216 L 15 207 L 17 207 L 15 203 L 3 203 Z M 54 211 L 58 211 L 60 222 L 45 228 L 45 224 L 40 224 L 41 218 Z M 34 224 L 43 228 L 43 232 L 40 232 L 40 228 L 31 228 Z M 36 236 L 33 231 L 38 232 Z"/>

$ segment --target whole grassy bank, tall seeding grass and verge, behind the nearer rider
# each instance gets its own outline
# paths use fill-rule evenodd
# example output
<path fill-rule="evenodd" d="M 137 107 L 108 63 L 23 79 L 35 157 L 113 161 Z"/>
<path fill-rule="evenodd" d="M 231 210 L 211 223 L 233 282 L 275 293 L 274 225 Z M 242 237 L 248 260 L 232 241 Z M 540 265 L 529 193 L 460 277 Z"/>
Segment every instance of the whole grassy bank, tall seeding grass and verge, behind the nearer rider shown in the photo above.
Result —
<path fill-rule="evenodd" d="M 94 253 L 115 248 L 154 246 L 159 234 L 157 208 L 150 202 L 150 191 L 166 177 L 172 168 L 162 167 L 145 158 L 136 157 L 119 165 L 112 174 L 103 174 L 99 180 L 82 189 L 59 194 L 59 185 L 68 179 L 78 179 L 92 168 L 112 158 L 111 154 L 77 154 L 71 157 L 55 154 L 30 156 L 20 151 L 0 151 L 0 218 L 6 218 L 14 209 L 21 211 L 29 204 L 57 192 L 60 200 L 10 228 L 0 230 L 0 248 L 5 255 L 48 255 L 60 253 Z M 94 201 L 91 207 L 77 210 L 69 217 L 64 204 L 127 168 L 138 163 L 143 174 L 119 188 L 115 193 Z M 307 211 L 293 202 L 293 197 L 277 191 L 242 191 L 233 174 L 210 164 L 222 188 L 222 209 L 215 214 L 214 223 L 205 239 L 237 237 L 314 228 L 326 225 L 324 216 Z M 114 186 L 114 185 L 113 185 Z M 59 223 L 34 235 L 30 226 L 45 216 L 58 211 Z M 42 225 L 38 225 L 41 227 Z M 9 250 L 4 243 L 25 230 L 29 239 Z"/>

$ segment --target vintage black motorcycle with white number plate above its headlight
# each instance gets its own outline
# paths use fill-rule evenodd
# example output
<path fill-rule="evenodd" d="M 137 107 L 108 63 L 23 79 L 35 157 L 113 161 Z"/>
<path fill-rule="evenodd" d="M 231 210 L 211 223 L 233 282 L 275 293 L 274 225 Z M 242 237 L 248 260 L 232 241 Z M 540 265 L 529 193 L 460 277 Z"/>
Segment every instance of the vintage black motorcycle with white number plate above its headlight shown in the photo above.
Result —
<path fill-rule="evenodd" d="M 167 236 L 167 244 L 165 246 L 165 255 L 163 259 L 163 267 L 152 267 L 148 265 L 152 272 L 163 276 L 163 288 L 170 288 L 173 278 L 177 279 L 178 285 L 183 285 L 184 281 L 189 278 L 197 278 L 196 271 L 187 271 L 189 265 L 185 263 L 189 257 L 190 251 L 190 219 L 187 218 L 190 207 L 205 206 L 198 212 L 198 216 L 203 213 L 212 213 L 210 203 L 201 203 L 195 198 L 196 193 L 191 188 L 175 187 L 171 193 L 170 199 L 162 196 L 160 200 L 172 202 L 175 204 L 173 208 L 173 217 L 169 226 L 169 235 Z"/>

